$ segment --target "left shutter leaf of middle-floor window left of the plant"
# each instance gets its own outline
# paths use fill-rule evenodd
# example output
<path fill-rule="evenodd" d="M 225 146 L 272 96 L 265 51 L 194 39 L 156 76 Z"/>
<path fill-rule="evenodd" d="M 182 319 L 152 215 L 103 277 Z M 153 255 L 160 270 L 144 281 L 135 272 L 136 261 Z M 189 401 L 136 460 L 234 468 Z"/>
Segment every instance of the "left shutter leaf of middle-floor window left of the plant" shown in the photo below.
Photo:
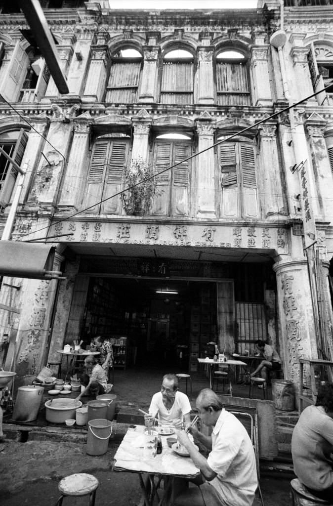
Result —
<path fill-rule="evenodd" d="M 86 206 L 90 207 L 94 203 L 96 205 L 88 209 L 87 213 L 99 213 L 100 204 L 97 202 L 102 199 L 109 145 L 110 141 L 105 139 L 97 141 L 94 146 L 88 176 Z"/>

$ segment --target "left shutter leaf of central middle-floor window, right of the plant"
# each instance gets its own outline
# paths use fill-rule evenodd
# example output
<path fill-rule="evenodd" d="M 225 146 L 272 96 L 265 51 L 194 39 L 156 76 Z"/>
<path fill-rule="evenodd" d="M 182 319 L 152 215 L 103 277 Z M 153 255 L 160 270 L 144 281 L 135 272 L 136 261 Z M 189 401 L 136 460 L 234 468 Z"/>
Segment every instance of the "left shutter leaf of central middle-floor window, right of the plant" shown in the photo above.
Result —
<path fill-rule="evenodd" d="M 154 149 L 155 173 L 163 171 L 172 165 L 172 142 L 156 141 Z M 171 170 L 156 176 L 159 195 L 155 195 L 152 214 L 169 216 L 170 212 L 170 181 Z"/>

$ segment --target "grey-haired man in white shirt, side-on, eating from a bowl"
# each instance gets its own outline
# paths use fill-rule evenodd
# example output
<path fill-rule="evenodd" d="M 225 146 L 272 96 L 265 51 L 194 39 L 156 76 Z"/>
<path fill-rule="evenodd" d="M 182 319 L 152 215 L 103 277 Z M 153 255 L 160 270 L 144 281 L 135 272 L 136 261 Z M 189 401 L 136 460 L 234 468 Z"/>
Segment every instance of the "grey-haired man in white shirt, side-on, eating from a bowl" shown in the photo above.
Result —
<path fill-rule="evenodd" d="M 223 408 L 213 390 L 201 390 L 196 407 L 201 423 L 213 428 L 212 435 L 205 436 L 195 426 L 189 426 L 188 430 L 194 440 L 209 450 L 209 455 L 207 458 L 201 455 L 186 432 L 176 430 L 179 443 L 201 471 L 201 484 L 199 487 L 190 484 L 174 505 L 252 506 L 258 479 L 255 452 L 246 429 Z"/>

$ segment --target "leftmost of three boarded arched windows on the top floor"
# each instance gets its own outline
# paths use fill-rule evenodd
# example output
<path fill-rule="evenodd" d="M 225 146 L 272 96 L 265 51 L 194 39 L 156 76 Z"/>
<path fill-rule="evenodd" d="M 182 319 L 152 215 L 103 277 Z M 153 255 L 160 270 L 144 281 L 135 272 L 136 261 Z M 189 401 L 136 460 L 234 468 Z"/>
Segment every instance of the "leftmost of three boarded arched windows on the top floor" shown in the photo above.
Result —
<path fill-rule="evenodd" d="M 135 49 L 121 49 L 111 58 L 105 102 L 132 104 L 137 101 L 142 55 Z"/>

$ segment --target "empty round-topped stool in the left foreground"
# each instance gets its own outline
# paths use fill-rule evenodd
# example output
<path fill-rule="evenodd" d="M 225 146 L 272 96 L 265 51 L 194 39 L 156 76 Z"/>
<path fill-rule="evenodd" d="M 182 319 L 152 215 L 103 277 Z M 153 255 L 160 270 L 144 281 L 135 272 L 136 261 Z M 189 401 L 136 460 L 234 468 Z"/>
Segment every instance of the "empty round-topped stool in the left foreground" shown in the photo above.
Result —
<path fill-rule="evenodd" d="M 66 476 L 59 483 L 59 490 L 61 496 L 58 499 L 56 506 L 61 506 L 63 498 L 67 495 L 78 497 L 80 495 L 89 494 L 89 506 L 94 506 L 96 490 L 99 485 L 99 481 L 95 476 L 86 473 L 75 473 L 70 476 Z"/>

